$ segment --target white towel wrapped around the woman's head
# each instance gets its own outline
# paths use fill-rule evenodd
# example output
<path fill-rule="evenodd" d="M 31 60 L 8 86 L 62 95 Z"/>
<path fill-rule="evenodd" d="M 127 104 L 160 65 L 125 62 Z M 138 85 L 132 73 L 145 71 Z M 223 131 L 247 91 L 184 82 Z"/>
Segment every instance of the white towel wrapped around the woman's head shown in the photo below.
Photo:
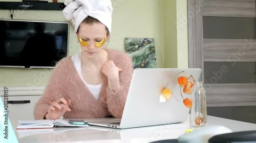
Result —
<path fill-rule="evenodd" d="M 86 17 L 98 19 L 111 33 L 112 3 L 110 0 L 65 0 L 63 14 L 75 24 L 75 32 Z"/>

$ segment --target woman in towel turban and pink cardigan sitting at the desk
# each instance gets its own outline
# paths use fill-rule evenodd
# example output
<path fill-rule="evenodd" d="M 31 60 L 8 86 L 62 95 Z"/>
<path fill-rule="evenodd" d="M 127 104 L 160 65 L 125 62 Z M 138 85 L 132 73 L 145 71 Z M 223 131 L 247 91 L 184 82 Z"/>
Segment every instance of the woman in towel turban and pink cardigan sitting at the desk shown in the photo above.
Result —
<path fill-rule="evenodd" d="M 126 53 L 104 48 L 111 33 L 111 1 L 69 0 L 65 5 L 63 13 L 75 24 L 81 52 L 57 63 L 34 117 L 121 118 L 133 67 Z"/>

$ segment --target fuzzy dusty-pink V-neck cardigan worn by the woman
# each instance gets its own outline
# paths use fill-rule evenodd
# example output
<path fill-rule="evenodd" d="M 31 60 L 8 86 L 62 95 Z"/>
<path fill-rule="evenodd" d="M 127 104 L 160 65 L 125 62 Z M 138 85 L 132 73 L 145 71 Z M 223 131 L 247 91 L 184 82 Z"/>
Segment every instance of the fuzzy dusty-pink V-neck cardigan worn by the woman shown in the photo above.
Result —
<path fill-rule="evenodd" d="M 34 108 L 34 118 L 43 119 L 53 101 L 60 98 L 71 99 L 71 111 L 67 111 L 64 118 L 102 118 L 114 116 L 121 118 L 127 93 L 130 87 L 133 67 L 129 55 L 122 51 L 106 49 L 109 60 L 123 71 L 119 73 L 121 88 L 113 93 L 108 88 L 105 77 L 96 100 L 79 77 L 71 56 L 60 60 L 54 69 L 44 93 Z"/>

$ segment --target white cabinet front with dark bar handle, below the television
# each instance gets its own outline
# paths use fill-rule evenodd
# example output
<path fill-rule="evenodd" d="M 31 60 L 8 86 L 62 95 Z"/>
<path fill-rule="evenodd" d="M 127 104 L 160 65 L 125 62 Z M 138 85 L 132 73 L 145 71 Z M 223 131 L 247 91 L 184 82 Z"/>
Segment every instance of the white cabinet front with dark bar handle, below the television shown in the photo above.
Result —
<path fill-rule="evenodd" d="M 34 120 L 33 111 L 40 95 L 8 96 L 9 119 L 16 127 L 18 120 Z M 4 102 L 4 96 L 1 96 Z"/>

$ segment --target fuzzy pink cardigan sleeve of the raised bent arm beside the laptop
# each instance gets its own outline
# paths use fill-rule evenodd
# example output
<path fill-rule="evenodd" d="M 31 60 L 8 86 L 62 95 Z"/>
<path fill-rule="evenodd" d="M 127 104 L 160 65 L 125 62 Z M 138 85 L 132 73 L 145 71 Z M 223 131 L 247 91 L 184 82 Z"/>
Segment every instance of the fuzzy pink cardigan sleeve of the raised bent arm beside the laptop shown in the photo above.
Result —
<path fill-rule="evenodd" d="M 123 71 L 119 73 L 120 89 L 117 92 L 112 92 L 106 87 L 106 103 L 108 110 L 115 118 L 121 118 L 129 91 L 130 83 L 133 74 L 133 64 L 129 55 L 123 54 L 123 57 L 115 63 L 117 67 Z"/>

